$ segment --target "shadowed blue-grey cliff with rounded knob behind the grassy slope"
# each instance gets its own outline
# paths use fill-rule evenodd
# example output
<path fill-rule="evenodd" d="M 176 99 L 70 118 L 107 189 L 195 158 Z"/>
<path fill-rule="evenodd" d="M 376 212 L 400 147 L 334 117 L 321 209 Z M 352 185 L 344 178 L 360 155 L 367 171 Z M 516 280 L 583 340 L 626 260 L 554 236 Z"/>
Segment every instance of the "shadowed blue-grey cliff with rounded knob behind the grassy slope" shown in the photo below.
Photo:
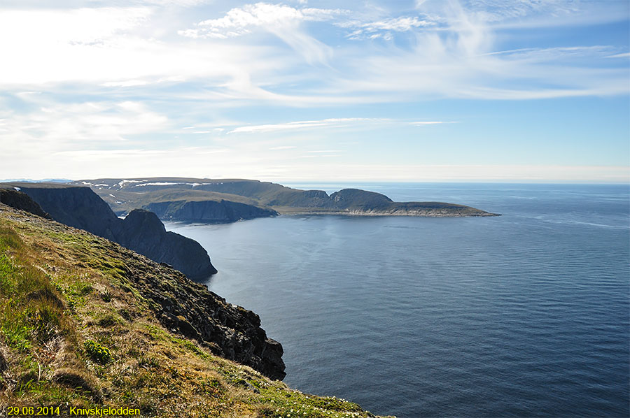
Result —
<path fill-rule="evenodd" d="M 84 229 L 166 263 L 189 278 L 200 279 L 216 273 L 210 257 L 195 240 L 167 232 L 160 219 L 146 210 L 119 219 L 89 187 L 24 185 L 24 192 L 57 222 Z"/>

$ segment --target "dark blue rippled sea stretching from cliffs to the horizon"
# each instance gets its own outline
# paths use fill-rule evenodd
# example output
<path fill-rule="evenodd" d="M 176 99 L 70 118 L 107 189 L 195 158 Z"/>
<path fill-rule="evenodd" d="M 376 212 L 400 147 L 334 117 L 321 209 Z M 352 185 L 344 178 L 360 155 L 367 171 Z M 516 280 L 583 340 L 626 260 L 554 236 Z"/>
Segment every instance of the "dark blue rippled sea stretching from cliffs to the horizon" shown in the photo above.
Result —
<path fill-rule="evenodd" d="M 167 224 L 257 312 L 295 389 L 398 417 L 629 417 L 628 185 L 360 187 L 501 217 Z"/>

